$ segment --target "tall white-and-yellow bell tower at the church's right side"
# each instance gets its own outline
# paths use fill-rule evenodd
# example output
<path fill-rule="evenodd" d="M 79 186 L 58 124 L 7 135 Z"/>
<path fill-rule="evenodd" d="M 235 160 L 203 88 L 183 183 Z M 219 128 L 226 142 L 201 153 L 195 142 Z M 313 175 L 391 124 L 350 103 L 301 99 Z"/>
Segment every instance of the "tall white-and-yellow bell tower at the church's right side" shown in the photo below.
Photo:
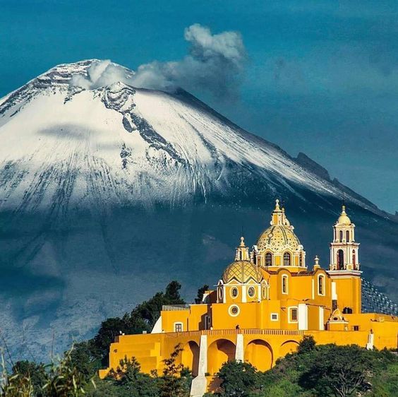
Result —
<path fill-rule="evenodd" d="M 343 313 L 361 313 L 361 271 L 359 243 L 355 242 L 355 225 L 346 214 L 346 206 L 333 226 L 330 243 L 329 273 L 332 278 L 332 308 Z"/>

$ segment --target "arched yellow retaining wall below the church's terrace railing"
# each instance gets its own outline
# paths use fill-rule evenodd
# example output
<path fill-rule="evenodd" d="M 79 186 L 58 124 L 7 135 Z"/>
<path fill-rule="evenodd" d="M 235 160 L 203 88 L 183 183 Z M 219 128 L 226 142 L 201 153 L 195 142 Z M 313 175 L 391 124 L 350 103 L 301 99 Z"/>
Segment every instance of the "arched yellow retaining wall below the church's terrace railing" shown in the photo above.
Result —
<path fill-rule="evenodd" d="M 361 316 L 363 318 L 361 319 Z M 243 334 L 244 360 L 248 360 L 258 369 L 270 369 L 279 357 L 296 350 L 304 335 L 311 335 L 316 343 L 323 345 L 356 344 L 366 347 L 369 331 L 372 329 L 375 347 L 397 348 L 397 319 L 380 321 L 375 314 L 348 315 L 348 320 L 361 324 L 361 331 L 289 331 L 266 329 L 224 329 L 208 331 L 188 331 L 182 333 L 157 333 L 147 335 L 126 335 L 116 338 L 109 349 L 109 368 L 100 372 L 106 376 L 110 368 L 116 368 L 124 357 L 135 357 L 140 362 L 143 372 L 150 373 L 152 369 L 162 371 L 162 360 L 169 357 L 177 344 L 183 351 L 179 361 L 197 372 L 200 336 L 207 335 L 207 372 L 215 374 L 222 363 L 234 360 L 236 335 Z M 371 328 L 370 328 L 371 327 Z"/>

